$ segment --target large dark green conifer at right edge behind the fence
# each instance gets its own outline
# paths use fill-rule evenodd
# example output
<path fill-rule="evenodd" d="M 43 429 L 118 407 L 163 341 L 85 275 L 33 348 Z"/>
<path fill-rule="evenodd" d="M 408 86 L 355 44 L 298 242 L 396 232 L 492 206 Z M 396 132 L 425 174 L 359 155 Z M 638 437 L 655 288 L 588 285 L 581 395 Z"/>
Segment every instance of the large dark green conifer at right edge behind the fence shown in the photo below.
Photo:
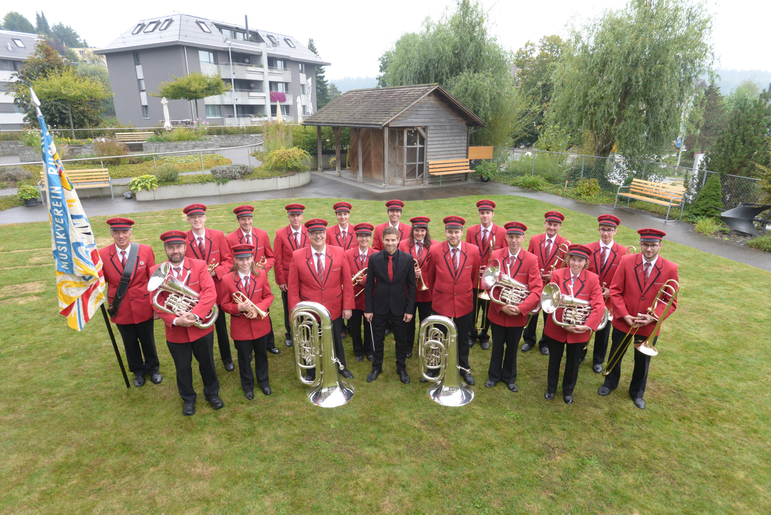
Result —
<path fill-rule="evenodd" d="M 756 99 L 739 100 L 705 159 L 706 170 L 754 177 L 756 165 L 769 165 L 769 130 L 771 86 Z"/>

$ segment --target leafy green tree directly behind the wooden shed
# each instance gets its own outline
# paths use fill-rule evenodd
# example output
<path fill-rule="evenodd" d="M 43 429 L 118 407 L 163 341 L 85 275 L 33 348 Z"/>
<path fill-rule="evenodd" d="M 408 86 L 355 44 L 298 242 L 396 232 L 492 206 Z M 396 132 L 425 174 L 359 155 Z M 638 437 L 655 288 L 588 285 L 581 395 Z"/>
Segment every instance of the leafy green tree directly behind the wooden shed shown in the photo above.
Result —
<path fill-rule="evenodd" d="M 454 12 L 426 19 L 380 57 L 380 86 L 439 83 L 484 121 L 476 144 L 507 146 L 519 117 L 510 53 L 490 35 L 478 2 L 458 0 Z"/>

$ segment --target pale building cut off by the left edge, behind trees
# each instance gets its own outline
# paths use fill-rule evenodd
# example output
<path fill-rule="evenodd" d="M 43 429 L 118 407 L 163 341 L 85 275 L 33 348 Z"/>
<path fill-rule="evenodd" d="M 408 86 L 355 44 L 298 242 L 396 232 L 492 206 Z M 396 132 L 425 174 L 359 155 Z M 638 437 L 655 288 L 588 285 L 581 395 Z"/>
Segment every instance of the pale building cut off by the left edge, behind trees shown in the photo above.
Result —
<path fill-rule="evenodd" d="M 13 103 L 13 96 L 8 92 L 8 82 L 22 69 L 24 62 L 35 52 L 37 34 L 0 30 L 0 130 L 19 130 L 24 128 L 24 116 Z"/>

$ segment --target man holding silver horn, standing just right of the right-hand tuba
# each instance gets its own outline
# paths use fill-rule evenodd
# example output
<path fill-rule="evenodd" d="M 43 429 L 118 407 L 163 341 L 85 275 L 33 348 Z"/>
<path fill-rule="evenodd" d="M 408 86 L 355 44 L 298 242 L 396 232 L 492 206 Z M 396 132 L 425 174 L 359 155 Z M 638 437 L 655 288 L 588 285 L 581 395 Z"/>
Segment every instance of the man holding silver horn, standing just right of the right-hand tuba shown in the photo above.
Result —
<path fill-rule="evenodd" d="M 500 305 L 490 301 L 490 328 L 493 332 L 493 350 L 490 352 L 490 369 L 487 370 L 487 388 L 499 381 L 512 392 L 517 391 L 517 348 L 527 324 L 527 314 L 540 303 L 544 282 L 540 280 L 538 258 L 522 248 L 527 225 L 509 222 L 504 225 L 508 246 L 493 252 L 493 260 L 500 263 L 501 272 L 524 284 L 530 294 L 519 305 Z M 534 315 L 537 316 L 537 315 Z"/>

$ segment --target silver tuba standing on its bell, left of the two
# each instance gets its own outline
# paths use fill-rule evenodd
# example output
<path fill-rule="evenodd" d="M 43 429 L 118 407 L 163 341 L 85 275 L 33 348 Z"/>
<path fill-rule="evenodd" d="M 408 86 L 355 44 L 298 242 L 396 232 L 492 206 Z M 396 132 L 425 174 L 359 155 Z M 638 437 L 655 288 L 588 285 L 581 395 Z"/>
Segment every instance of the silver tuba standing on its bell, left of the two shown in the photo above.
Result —
<path fill-rule="evenodd" d="M 344 367 L 335 357 L 332 339 L 332 318 L 318 302 L 298 302 L 289 315 L 291 337 L 295 342 L 295 365 L 301 382 L 309 385 L 308 399 L 322 408 L 342 406 L 353 397 L 353 386 L 340 379 L 338 367 Z M 316 369 L 312 381 L 304 372 Z"/>

